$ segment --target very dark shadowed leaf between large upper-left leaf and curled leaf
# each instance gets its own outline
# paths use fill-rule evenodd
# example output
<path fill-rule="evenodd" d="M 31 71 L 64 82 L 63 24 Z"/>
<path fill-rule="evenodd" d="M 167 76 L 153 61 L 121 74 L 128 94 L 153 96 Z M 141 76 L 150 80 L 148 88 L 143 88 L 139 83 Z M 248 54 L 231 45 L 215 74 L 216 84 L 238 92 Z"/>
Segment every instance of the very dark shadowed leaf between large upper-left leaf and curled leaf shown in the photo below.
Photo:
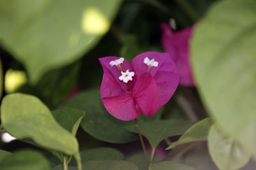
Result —
<path fill-rule="evenodd" d="M 81 62 L 51 70 L 42 76 L 35 86 L 23 85 L 17 92 L 40 97 L 50 108 L 56 108 L 74 90 L 79 78 Z"/>

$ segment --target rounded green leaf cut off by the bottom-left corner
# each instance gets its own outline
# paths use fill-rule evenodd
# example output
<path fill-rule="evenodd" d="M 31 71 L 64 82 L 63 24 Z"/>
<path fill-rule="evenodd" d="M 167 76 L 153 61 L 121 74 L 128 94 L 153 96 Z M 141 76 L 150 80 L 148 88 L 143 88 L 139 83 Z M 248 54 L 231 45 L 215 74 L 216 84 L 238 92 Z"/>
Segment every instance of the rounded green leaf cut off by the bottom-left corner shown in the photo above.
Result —
<path fill-rule="evenodd" d="M 20 150 L 1 160 L 0 169 L 48 170 L 51 169 L 51 166 L 42 153 L 35 150 Z"/>

